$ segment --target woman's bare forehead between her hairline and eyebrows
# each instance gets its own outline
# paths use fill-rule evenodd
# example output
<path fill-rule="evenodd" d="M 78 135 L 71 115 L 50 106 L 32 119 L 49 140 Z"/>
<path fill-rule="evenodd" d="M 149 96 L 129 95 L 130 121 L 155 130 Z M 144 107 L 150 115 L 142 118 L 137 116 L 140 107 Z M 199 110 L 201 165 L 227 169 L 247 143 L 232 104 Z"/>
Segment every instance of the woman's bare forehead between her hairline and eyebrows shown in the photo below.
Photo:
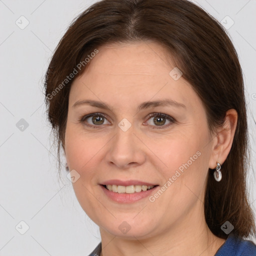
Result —
<path fill-rule="evenodd" d="M 189 104 L 196 95 L 182 76 L 174 80 L 171 55 L 156 42 L 113 43 L 98 47 L 82 75 L 71 86 L 70 101 L 90 98 L 139 104 L 163 97 Z M 119 102 L 120 101 L 120 102 Z"/>

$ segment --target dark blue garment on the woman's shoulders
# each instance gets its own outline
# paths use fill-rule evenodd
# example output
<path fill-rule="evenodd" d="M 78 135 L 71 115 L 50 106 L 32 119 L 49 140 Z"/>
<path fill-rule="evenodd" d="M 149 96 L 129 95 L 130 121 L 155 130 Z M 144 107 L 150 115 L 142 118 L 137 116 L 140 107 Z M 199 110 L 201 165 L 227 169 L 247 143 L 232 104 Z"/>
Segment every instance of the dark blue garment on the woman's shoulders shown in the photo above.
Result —
<path fill-rule="evenodd" d="M 101 242 L 88 256 L 99 256 L 100 252 Z M 214 256 L 256 256 L 256 245 L 230 233 Z"/>

